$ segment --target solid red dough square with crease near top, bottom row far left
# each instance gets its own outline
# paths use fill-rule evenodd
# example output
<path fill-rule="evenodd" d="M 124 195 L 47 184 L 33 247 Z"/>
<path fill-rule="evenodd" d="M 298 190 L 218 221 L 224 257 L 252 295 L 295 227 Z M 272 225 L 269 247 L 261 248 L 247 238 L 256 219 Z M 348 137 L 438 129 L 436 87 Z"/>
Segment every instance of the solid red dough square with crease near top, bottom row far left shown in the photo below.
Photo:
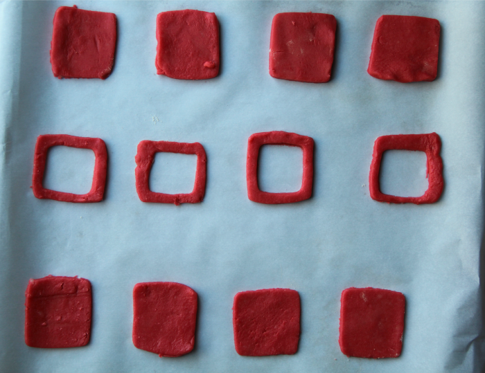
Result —
<path fill-rule="evenodd" d="M 26 345 L 42 348 L 87 345 L 91 334 L 91 282 L 52 275 L 31 279 L 25 298 Z"/>

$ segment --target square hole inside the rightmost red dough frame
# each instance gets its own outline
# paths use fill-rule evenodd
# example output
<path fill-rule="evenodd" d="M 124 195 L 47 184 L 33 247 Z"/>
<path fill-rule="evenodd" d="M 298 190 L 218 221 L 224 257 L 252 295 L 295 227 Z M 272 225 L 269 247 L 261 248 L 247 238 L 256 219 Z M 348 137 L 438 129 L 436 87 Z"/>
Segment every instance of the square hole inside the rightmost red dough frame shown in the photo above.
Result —
<path fill-rule="evenodd" d="M 429 187 L 425 152 L 387 150 L 380 165 L 380 190 L 399 197 L 420 197 Z"/>

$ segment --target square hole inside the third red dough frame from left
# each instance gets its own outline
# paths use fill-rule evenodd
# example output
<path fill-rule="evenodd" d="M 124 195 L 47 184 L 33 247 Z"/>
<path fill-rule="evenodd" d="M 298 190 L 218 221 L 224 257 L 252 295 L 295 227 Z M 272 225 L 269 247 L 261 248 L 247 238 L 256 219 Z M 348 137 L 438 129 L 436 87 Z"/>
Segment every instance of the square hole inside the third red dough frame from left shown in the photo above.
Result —
<path fill-rule="evenodd" d="M 300 147 L 263 145 L 259 150 L 258 186 L 264 192 L 297 192 L 303 179 Z"/>

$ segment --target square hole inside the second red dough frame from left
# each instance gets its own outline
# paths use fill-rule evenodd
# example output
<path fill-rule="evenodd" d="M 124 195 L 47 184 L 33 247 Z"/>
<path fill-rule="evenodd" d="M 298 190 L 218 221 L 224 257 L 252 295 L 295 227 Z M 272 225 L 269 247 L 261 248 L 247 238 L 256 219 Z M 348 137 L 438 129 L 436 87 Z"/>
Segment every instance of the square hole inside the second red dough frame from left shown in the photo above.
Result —
<path fill-rule="evenodd" d="M 192 192 L 196 166 L 195 154 L 156 153 L 150 172 L 150 190 L 168 194 Z"/>

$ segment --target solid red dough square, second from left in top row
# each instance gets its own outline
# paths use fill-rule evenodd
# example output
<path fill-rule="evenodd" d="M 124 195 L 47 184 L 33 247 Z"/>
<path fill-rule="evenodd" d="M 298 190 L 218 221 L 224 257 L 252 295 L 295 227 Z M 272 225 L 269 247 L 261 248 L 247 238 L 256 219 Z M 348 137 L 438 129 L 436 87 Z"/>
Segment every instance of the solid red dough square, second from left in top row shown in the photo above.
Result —
<path fill-rule="evenodd" d="M 157 74 L 200 80 L 219 74 L 219 22 L 214 13 L 173 10 L 157 16 Z"/>

